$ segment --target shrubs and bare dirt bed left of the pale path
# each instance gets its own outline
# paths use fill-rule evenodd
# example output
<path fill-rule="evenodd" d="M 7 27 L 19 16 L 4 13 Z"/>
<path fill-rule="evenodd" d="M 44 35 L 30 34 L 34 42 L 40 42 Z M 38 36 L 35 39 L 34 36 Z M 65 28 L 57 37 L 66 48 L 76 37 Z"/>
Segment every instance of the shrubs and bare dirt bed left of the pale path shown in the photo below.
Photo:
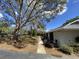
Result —
<path fill-rule="evenodd" d="M 21 36 L 19 41 L 5 39 L 0 43 L 0 49 L 36 53 L 37 38 Z"/>

